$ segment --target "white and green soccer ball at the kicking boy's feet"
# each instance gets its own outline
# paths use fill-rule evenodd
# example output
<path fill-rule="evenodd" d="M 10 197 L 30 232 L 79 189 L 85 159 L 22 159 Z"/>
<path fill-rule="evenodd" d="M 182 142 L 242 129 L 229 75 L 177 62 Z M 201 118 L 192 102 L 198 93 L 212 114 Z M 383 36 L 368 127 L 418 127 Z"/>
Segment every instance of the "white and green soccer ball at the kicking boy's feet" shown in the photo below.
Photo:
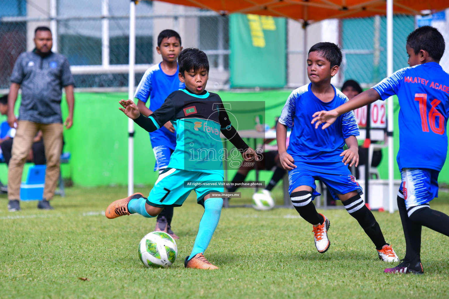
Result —
<path fill-rule="evenodd" d="M 139 243 L 139 258 L 147 268 L 168 268 L 177 255 L 175 240 L 163 231 L 146 234 Z"/>

